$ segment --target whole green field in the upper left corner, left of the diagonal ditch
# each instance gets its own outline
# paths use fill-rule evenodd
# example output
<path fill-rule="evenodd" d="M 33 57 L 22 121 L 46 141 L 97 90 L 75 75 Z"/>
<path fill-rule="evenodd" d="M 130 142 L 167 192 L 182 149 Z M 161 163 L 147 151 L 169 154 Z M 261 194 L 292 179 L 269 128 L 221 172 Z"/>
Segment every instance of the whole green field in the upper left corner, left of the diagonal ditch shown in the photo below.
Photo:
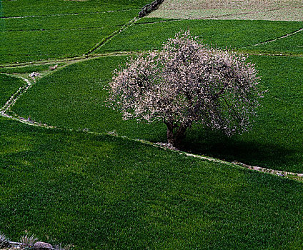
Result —
<path fill-rule="evenodd" d="M 146 1 L 131 1 L 129 5 L 125 5 L 126 1 L 112 1 L 111 4 L 106 1 L 36 1 L 33 6 L 32 1 L 22 2 L 2 1 L 0 64 L 81 56 L 134 19 L 140 6 L 146 4 Z"/>

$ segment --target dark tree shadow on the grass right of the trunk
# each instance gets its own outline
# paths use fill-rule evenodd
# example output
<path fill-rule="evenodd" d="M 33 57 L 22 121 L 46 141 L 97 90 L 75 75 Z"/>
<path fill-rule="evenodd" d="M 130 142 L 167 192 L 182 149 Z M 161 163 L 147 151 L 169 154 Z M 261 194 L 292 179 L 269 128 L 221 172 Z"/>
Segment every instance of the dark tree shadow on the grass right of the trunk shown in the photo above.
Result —
<path fill-rule="evenodd" d="M 228 137 L 220 131 L 194 129 L 187 132 L 183 150 L 226 161 L 241 161 L 244 164 L 299 172 L 300 169 L 296 170 L 294 166 L 300 164 L 299 157 L 296 156 L 299 153 L 297 150 L 247 137 Z"/>

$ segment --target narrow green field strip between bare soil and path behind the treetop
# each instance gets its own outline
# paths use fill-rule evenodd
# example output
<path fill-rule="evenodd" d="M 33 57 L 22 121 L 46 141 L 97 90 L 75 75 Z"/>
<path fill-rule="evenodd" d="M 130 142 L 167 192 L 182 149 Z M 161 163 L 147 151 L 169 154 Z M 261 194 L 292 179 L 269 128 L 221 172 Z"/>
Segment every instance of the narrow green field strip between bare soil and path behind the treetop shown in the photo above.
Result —
<path fill-rule="evenodd" d="M 163 19 L 159 19 L 162 21 Z M 157 19 L 141 19 L 136 25 L 104 44 L 96 53 L 105 51 L 138 51 L 157 49 L 164 41 L 180 30 L 189 29 L 204 43 L 222 48 L 245 51 L 303 54 L 302 34 L 294 34 L 274 43 L 254 46 L 277 39 L 303 28 L 303 22 L 287 21 L 231 21 L 231 20 L 179 20 L 157 22 Z M 214 32 L 216 30 L 216 32 Z M 302 31 L 303 32 L 303 31 Z M 271 47 L 274 46 L 275 47 Z"/>

